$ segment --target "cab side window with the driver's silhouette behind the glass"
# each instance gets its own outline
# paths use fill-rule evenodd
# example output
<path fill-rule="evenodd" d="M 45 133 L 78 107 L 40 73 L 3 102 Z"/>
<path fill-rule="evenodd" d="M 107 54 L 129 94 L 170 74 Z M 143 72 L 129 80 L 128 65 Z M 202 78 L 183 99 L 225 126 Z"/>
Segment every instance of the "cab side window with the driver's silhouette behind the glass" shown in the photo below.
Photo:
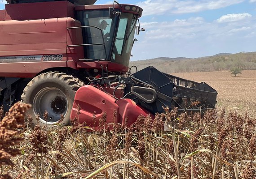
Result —
<path fill-rule="evenodd" d="M 84 57 L 92 60 L 110 59 L 118 17 L 110 18 L 108 9 L 79 11 L 77 16 L 82 26 L 89 26 L 83 28 L 84 44 L 90 44 L 84 46 Z"/>

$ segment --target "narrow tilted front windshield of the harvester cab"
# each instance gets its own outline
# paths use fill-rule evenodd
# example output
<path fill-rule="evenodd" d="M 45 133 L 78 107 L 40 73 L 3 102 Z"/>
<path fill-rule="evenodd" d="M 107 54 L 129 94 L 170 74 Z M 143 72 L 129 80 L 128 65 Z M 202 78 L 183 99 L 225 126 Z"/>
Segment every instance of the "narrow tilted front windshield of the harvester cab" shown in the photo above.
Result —
<path fill-rule="evenodd" d="M 113 62 L 125 66 L 129 65 L 136 23 L 136 15 L 121 13 L 112 55 Z"/>

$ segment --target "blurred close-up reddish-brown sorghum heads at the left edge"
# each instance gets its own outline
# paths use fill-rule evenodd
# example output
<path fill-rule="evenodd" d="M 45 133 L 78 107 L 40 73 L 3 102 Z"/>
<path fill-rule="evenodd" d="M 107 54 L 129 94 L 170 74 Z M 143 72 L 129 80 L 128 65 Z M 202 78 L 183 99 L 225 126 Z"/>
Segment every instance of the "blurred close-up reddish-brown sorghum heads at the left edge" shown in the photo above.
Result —
<path fill-rule="evenodd" d="M 11 157 L 20 154 L 20 150 L 15 149 L 14 146 L 23 138 L 17 136 L 19 132 L 16 129 L 24 126 L 25 112 L 30 107 L 29 104 L 17 102 L 0 122 L 0 166 L 13 165 Z M 0 178 L 11 179 L 9 175 L 0 175 Z"/>

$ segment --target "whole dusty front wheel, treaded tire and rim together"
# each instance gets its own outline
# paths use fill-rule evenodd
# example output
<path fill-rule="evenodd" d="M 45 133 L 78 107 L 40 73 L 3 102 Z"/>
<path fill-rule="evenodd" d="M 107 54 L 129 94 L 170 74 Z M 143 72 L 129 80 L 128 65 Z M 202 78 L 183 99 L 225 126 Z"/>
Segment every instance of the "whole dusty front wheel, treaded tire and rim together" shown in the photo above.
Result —
<path fill-rule="evenodd" d="M 22 102 L 29 103 L 32 107 L 27 114 L 37 121 L 40 116 L 40 125 L 51 125 L 59 121 L 60 115 L 64 115 L 62 125 L 70 124 L 70 114 L 75 98 L 75 93 L 84 85 L 78 78 L 61 72 L 46 72 L 34 77 L 23 90 Z M 44 119 L 44 111 L 49 113 L 48 119 Z"/>

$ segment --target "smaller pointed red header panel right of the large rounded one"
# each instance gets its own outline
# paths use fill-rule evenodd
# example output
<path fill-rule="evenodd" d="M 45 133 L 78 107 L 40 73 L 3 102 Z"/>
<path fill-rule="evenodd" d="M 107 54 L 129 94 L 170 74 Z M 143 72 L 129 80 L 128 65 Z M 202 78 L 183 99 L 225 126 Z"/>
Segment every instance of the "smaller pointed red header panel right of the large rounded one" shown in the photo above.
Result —
<path fill-rule="evenodd" d="M 127 126 L 135 123 L 139 115 L 148 115 L 150 112 L 139 107 L 132 99 L 119 99 L 116 104 L 119 106 L 119 123 L 125 124 L 127 117 Z"/>

